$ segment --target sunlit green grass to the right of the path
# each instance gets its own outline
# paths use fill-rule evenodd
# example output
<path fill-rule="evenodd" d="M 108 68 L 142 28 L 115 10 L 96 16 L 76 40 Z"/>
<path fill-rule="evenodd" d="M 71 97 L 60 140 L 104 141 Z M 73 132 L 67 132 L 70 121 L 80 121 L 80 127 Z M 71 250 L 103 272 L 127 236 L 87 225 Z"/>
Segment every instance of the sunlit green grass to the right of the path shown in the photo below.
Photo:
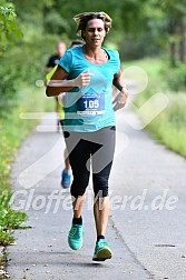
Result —
<path fill-rule="evenodd" d="M 124 69 L 137 66 L 146 71 L 148 86 L 139 94 L 136 94 L 135 104 L 140 107 L 157 92 L 165 93 L 169 104 L 147 127 L 151 136 L 168 149 L 186 158 L 186 93 L 173 92 L 168 89 L 165 78 L 161 76 L 163 62 L 158 59 L 145 59 L 126 61 Z M 135 80 L 135 77 L 134 77 Z M 147 111 L 141 112 L 140 118 L 146 119 Z"/>

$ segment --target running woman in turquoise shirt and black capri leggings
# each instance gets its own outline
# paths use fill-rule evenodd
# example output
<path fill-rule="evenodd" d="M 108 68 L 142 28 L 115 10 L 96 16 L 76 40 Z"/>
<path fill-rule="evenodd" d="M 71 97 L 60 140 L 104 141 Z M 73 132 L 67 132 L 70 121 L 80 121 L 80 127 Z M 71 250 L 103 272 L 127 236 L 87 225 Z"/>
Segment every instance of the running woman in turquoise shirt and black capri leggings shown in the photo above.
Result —
<path fill-rule="evenodd" d="M 69 49 L 60 59 L 46 93 L 51 97 L 67 92 L 62 127 L 74 174 L 70 189 L 74 218 L 68 243 L 74 250 L 82 246 L 82 208 L 92 173 L 97 231 L 92 260 L 105 261 L 112 254 L 105 234 L 109 213 L 108 179 L 115 150 L 115 111 L 126 104 L 128 90 L 121 84 L 118 52 L 102 47 L 111 18 L 105 12 L 84 12 L 74 19 L 85 44 Z M 111 102 L 112 83 L 120 92 Z"/>

